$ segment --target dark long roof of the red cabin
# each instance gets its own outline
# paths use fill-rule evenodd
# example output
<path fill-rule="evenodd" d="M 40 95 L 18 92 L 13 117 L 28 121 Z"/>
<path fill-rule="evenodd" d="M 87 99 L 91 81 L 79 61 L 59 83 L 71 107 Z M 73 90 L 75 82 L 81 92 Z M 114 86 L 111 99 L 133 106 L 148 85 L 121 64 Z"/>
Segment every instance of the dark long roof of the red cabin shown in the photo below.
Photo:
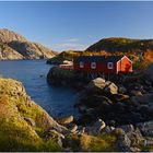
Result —
<path fill-rule="evenodd" d="M 122 56 L 80 56 L 74 62 L 117 62 Z"/>

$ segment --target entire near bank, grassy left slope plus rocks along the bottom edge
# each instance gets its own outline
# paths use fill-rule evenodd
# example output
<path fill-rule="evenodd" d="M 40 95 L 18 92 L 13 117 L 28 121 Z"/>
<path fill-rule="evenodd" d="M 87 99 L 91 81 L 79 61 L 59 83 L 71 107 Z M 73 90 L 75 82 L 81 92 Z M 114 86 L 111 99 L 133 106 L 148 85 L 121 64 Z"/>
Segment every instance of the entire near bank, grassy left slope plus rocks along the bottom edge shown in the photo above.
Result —
<path fill-rule="evenodd" d="M 110 86 L 106 91 L 115 94 L 115 84 Z M 22 83 L 0 79 L 0 151 L 153 150 L 153 120 L 122 126 L 99 116 L 85 123 L 73 116 L 55 120 L 26 95 Z"/>

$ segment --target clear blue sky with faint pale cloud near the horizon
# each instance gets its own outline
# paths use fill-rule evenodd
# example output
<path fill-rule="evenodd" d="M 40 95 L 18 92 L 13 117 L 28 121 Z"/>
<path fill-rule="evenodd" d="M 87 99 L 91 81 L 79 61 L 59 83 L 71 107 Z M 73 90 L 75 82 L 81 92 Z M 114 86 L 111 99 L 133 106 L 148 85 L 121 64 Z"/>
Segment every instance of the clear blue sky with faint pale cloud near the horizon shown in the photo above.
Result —
<path fill-rule="evenodd" d="M 0 28 L 56 51 L 106 37 L 153 38 L 153 1 L 1 1 Z"/>

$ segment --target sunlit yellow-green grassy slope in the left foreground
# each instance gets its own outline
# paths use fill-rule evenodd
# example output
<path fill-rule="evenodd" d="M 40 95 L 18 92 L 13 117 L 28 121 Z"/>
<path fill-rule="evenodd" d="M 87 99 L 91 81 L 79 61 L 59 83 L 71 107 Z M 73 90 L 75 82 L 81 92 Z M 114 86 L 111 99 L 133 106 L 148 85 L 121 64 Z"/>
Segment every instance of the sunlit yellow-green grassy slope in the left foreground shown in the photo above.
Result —
<path fill-rule="evenodd" d="M 33 119 L 36 126 L 24 117 Z M 0 79 L 0 151 L 60 151 L 54 140 L 45 141 L 42 137 L 49 120 L 20 82 Z"/>

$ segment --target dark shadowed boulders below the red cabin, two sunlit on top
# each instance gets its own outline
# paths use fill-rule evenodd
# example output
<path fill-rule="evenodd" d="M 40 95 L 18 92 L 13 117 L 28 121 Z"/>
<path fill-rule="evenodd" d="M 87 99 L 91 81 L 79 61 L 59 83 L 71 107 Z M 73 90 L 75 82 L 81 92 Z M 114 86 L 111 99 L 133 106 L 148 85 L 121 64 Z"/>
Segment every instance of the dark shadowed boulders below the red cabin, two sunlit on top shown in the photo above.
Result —
<path fill-rule="evenodd" d="M 153 119 L 153 85 L 144 76 L 116 83 L 97 78 L 83 89 L 76 107 L 81 125 L 97 118 L 109 126 L 149 121 Z"/>

